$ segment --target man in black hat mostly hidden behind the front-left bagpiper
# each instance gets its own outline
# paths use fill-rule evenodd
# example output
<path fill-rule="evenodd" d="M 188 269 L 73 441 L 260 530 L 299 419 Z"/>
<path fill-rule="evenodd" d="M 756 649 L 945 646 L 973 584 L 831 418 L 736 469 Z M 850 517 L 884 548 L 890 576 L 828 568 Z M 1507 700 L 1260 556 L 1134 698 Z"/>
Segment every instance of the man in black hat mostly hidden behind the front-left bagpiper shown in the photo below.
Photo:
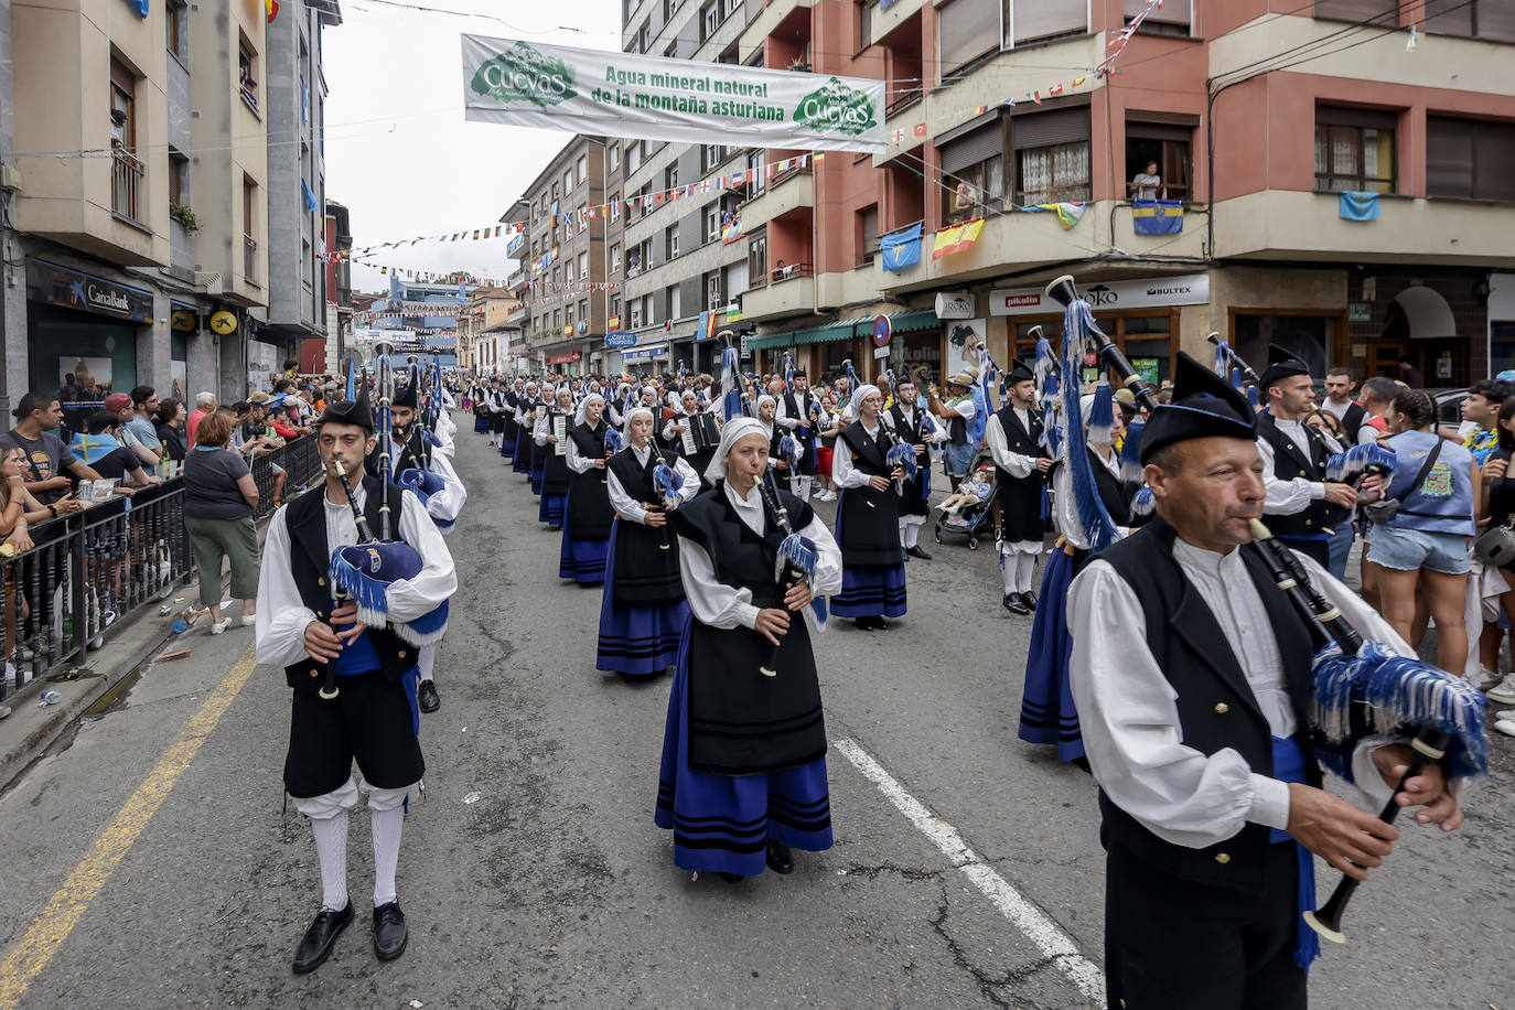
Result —
<path fill-rule="evenodd" d="M 464 486 L 458 471 L 453 469 L 447 453 L 441 451 L 441 444 L 435 432 L 420 422 L 420 392 L 418 376 L 411 374 L 411 383 L 401 386 L 389 406 L 392 430 L 389 435 L 389 479 L 401 488 L 415 492 L 426 507 L 426 515 L 432 516 L 436 528 L 442 535 L 451 533 L 458 525 L 464 503 L 468 501 L 468 489 Z M 370 477 L 377 477 L 383 447 L 374 441 L 374 450 L 364 460 L 364 468 Z M 421 684 L 417 698 L 421 712 L 436 712 L 442 707 L 441 695 L 436 694 L 436 642 L 420 648 Z"/>

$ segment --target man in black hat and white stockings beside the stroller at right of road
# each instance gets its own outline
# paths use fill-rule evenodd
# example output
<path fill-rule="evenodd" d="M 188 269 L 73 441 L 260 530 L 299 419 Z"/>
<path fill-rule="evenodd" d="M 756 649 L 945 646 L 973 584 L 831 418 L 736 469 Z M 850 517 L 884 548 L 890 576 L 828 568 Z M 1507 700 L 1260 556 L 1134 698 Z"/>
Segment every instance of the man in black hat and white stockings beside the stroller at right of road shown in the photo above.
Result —
<path fill-rule="evenodd" d="M 1051 457 L 1041 447 L 1042 419 L 1036 412 L 1036 377 L 1021 362 L 1004 376 L 1006 403 L 989 416 L 985 439 L 1000 469 L 1000 569 L 1004 574 L 1001 606 L 1011 613 L 1036 610 L 1032 589 L 1042 551 L 1042 498 Z"/>

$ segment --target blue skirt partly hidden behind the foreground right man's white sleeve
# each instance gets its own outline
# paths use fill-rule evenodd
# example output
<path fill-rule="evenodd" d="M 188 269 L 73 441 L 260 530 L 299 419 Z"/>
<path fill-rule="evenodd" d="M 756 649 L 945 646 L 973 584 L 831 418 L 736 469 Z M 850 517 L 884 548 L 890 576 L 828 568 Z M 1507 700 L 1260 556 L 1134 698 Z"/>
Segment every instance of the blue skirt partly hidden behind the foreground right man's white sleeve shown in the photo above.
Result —
<path fill-rule="evenodd" d="M 1015 734 L 1030 743 L 1053 743 L 1057 760 L 1083 757 L 1079 712 L 1073 707 L 1068 663 L 1073 637 L 1068 634 L 1068 586 L 1079 574 L 1073 557 L 1054 550 L 1042 571 L 1032 644 L 1026 653 L 1026 686 L 1021 692 L 1021 722 Z"/>

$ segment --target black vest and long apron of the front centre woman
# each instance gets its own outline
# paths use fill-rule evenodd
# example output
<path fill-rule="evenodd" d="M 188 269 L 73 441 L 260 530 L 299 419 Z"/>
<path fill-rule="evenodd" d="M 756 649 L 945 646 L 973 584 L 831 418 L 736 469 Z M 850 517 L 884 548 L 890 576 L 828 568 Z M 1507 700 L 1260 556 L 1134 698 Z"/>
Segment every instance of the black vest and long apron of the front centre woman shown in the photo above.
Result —
<path fill-rule="evenodd" d="M 811 524 L 807 504 L 782 489 L 779 500 L 792 528 Z M 756 607 L 782 606 L 785 588 L 774 578 L 774 562 L 785 533 L 773 515 L 758 536 L 717 486 L 674 512 L 670 524 L 704 548 L 720 583 L 750 589 Z M 777 675 L 764 675 L 765 666 Z M 753 775 L 797 768 L 824 753 L 821 689 L 803 615 L 791 615 L 777 651 L 751 628 L 689 624 L 691 768 Z"/>

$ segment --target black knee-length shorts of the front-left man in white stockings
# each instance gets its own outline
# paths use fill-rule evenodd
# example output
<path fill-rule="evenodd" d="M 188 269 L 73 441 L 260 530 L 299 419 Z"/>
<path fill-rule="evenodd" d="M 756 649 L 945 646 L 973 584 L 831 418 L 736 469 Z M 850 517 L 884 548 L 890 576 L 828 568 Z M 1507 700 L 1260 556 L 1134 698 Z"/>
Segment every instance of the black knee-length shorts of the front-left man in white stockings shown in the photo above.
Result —
<path fill-rule="evenodd" d="M 415 737 L 408 674 L 389 680 L 380 671 L 338 677 L 330 701 L 295 690 L 289 713 L 285 789 L 295 800 L 336 792 L 353 774 L 353 762 L 370 786 L 401 789 L 421 780 L 426 760 Z"/>

